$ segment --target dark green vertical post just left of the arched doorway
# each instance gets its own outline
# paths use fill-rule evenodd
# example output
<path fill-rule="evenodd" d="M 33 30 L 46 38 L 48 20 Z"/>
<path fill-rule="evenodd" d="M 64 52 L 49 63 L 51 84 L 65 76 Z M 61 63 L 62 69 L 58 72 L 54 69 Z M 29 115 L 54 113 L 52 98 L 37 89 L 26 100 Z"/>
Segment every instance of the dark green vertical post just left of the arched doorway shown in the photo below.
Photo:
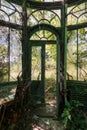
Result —
<path fill-rule="evenodd" d="M 23 1 L 22 5 L 22 75 L 23 80 L 27 79 L 27 8 L 26 0 Z"/>

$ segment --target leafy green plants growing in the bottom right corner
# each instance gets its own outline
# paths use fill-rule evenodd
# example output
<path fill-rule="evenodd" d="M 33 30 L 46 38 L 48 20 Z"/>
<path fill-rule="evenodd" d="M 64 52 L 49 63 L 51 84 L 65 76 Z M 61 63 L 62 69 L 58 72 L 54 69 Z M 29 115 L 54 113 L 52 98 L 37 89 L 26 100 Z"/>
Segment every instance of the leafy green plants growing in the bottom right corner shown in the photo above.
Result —
<path fill-rule="evenodd" d="M 83 111 L 83 104 L 79 101 L 67 102 L 62 119 L 66 130 L 86 130 L 87 128 L 87 115 Z"/>

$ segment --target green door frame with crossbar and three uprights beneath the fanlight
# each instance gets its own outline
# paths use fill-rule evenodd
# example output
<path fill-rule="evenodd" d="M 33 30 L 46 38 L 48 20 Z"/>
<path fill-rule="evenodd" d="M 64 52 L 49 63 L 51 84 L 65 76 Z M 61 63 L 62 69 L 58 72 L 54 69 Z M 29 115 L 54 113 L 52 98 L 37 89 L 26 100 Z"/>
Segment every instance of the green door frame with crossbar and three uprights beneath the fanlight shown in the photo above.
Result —
<path fill-rule="evenodd" d="M 50 45 L 50 44 L 55 44 L 56 45 L 56 105 L 57 105 L 57 108 L 58 108 L 58 104 L 59 104 L 59 84 L 58 84 L 58 74 L 59 74 L 59 62 L 60 62 L 60 56 L 59 56 L 59 53 L 60 51 L 58 50 L 59 48 L 59 44 L 57 44 L 57 41 L 46 41 L 46 40 L 29 40 L 29 64 L 30 64 L 30 71 L 29 71 L 29 76 L 31 77 L 31 56 L 32 56 L 32 51 L 31 51 L 31 48 L 33 46 L 41 46 L 42 48 L 42 58 L 41 58 L 41 84 L 43 85 L 42 86 L 42 89 L 41 89 L 41 93 L 43 95 L 43 102 L 45 102 L 45 45 Z M 31 78 L 30 78 L 31 79 Z"/>

